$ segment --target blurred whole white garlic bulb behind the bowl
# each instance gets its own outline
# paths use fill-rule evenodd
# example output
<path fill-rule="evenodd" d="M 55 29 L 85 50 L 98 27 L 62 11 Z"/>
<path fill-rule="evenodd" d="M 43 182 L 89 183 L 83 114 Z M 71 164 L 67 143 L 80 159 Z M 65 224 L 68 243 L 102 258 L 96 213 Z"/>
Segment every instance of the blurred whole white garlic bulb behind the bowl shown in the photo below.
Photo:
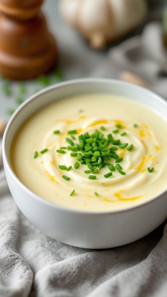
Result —
<path fill-rule="evenodd" d="M 101 48 L 137 26 L 146 15 L 145 0 L 61 0 L 64 20 L 92 47 Z"/>

